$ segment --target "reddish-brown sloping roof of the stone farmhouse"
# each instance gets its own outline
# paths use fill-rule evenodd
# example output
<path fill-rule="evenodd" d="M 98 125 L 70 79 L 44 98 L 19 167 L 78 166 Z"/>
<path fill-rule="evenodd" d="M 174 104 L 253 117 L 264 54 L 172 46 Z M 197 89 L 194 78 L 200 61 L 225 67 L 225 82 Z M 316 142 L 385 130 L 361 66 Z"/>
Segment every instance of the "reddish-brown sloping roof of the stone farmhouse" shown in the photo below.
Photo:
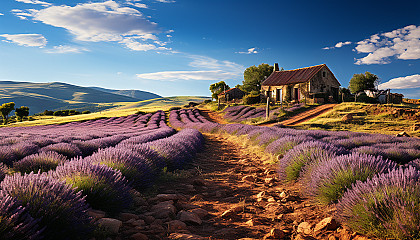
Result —
<path fill-rule="evenodd" d="M 312 67 L 298 68 L 294 70 L 275 71 L 262 83 L 262 85 L 281 86 L 287 84 L 307 82 L 323 67 L 327 67 L 327 65 L 321 64 Z"/>

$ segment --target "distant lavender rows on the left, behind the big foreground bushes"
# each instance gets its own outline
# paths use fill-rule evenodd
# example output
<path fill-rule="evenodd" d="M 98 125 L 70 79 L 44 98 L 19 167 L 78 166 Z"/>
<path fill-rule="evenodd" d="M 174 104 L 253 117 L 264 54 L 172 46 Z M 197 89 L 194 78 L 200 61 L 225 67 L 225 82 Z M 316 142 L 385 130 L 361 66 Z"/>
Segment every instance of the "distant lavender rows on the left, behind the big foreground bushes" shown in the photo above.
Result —
<path fill-rule="evenodd" d="M 144 138 L 156 131 L 163 135 L 173 134 L 161 111 L 64 125 L 4 128 L 0 134 L 0 162 L 11 166 L 27 156 L 50 151 L 67 159 L 88 156 L 99 148 L 136 137 Z"/>

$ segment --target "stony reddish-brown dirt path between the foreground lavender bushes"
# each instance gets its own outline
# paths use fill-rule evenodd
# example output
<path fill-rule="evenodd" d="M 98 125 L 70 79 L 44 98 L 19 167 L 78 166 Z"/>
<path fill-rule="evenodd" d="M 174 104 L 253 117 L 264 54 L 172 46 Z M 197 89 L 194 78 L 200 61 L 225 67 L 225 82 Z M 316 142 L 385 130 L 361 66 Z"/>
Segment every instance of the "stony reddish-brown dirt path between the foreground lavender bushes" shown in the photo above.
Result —
<path fill-rule="evenodd" d="M 199 206 L 208 215 L 169 239 L 263 239 L 270 231 L 294 239 L 299 223 L 315 224 L 332 211 L 303 198 L 298 185 L 280 184 L 275 165 L 225 136 L 206 135 L 192 172 L 157 191 L 181 194 L 187 200 L 178 206 Z"/>

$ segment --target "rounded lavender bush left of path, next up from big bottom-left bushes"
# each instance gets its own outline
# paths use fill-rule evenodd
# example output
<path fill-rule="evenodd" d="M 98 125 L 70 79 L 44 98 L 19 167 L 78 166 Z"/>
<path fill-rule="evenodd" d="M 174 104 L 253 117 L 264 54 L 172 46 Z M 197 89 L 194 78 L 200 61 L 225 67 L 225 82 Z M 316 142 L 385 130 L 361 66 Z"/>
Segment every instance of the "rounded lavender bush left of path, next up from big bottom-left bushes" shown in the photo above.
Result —
<path fill-rule="evenodd" d="M 82 190 L 86 201 L 94 209 L 115 214 L 131 205 L 128 181 L 120 171 L 108 166 L 78 159 L 57 167 L 51 174 Z"/>

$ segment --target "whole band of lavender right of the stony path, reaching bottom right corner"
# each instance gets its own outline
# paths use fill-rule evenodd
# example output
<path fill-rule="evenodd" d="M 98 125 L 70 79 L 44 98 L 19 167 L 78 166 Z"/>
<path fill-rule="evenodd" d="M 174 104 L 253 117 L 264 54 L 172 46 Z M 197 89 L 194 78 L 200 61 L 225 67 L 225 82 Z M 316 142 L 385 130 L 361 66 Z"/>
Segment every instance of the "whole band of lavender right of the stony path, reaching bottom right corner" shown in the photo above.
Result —
<path fill-rule="evenodd" d="M 420 236 L 420 139 L 221 125 L 200 117 L 196 109 L 172 111 L 169 119 L 177 128 L 243 135 L 265 147 L 278 156 L 282 180 L 301 181 L 309 196 L 336 204 L 337 219 L 358 232 L 396 239 Z"/>

